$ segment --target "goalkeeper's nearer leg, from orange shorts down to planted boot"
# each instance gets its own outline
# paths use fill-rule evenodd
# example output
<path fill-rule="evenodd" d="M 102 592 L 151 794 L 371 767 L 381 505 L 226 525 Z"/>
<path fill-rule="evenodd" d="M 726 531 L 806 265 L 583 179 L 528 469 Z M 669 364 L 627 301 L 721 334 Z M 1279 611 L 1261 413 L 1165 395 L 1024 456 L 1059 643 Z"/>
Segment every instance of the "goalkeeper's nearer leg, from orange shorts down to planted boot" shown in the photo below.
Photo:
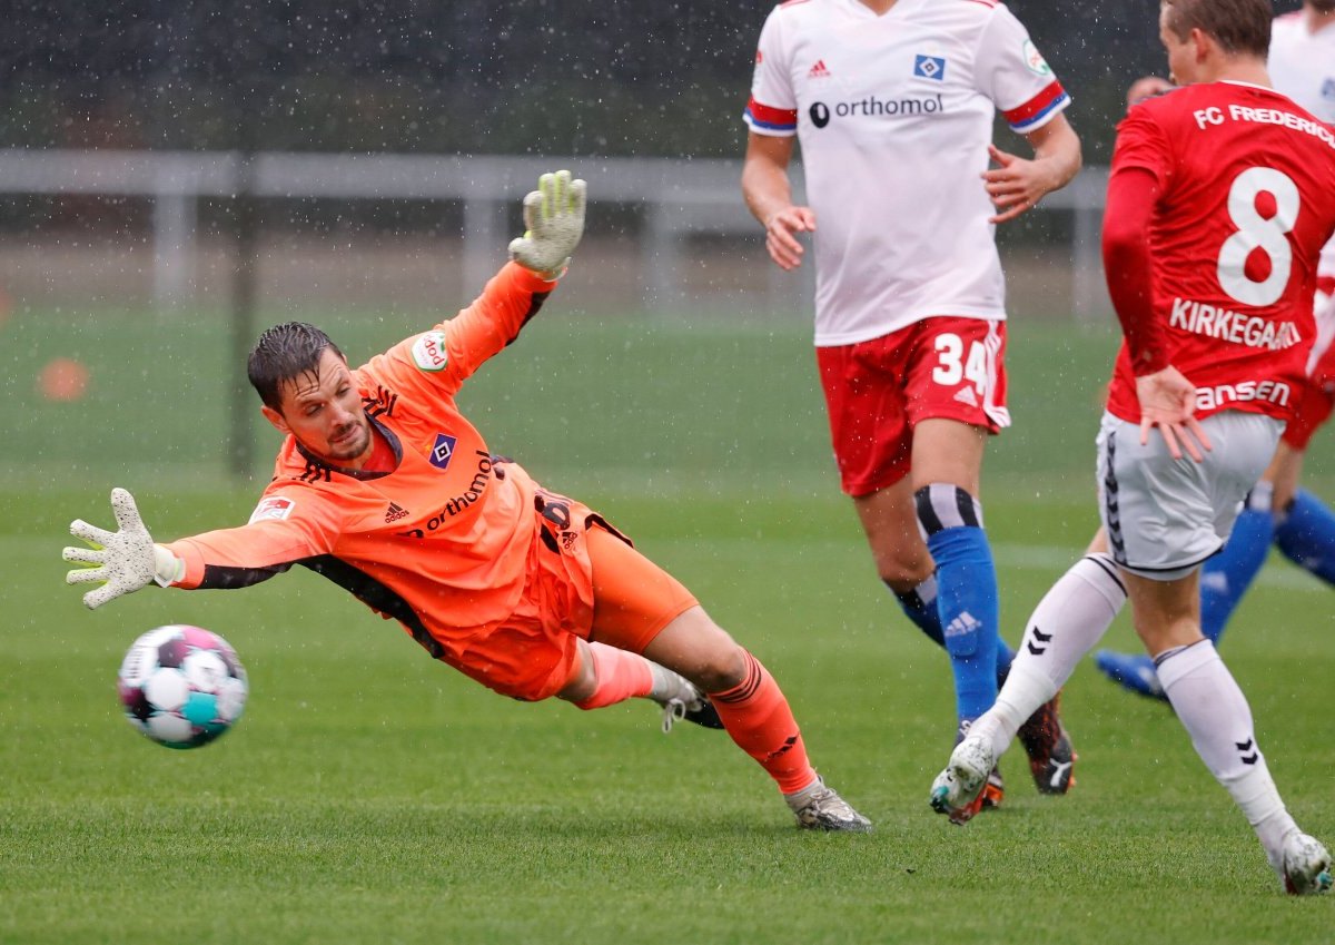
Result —
<path fill-rule="evenodd" d="M 870 822 L 826 788 L 806 755 L 778 683 L 714 623 L 672 575 L 601 529 L 587 531 L 593 562 L 591 639 L 689 681 L 722 727 L 784 793 L 805 828 L 866 830 Z"/>

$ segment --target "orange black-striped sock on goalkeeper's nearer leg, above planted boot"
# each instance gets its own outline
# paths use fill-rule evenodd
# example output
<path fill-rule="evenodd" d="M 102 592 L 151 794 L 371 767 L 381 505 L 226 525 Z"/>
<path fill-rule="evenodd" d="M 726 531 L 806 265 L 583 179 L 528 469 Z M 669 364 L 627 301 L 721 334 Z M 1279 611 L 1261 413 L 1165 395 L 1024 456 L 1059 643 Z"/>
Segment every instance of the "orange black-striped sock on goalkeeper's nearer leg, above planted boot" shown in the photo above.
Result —
<path fill-rule="evenodd" d="M 746 678 L 722 693 L 710 693 L 728 734 L 778 782 L 785 794 L 802 790 L 816 781 L 806 758 L 802 733 L 788 699 L 760 661 L 746 657 Z"/>

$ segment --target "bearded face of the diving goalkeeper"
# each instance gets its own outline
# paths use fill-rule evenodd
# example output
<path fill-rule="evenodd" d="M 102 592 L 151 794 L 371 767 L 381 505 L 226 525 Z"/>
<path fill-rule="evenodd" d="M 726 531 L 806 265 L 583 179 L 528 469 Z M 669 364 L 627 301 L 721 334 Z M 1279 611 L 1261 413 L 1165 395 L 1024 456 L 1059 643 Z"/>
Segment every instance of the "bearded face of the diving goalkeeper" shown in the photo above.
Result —
<path fill-rule="evenodd" d="M 314 371 L 283 384 L 279 410 L 262 407 L 268 422 L 332 466 L 360 468 L 371 455 L 371 420 L 362 394 L 339 355 L 324 348 Z"/>

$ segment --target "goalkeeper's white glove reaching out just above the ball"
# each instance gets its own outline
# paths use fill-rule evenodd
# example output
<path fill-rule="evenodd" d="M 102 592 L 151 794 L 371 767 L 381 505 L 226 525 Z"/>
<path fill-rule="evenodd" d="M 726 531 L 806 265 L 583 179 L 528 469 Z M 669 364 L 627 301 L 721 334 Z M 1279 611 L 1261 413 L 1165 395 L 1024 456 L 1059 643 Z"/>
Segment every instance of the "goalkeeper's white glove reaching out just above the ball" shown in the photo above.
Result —
<path fill-rule="evenodd" d="M 68 585 L 104 582 L 84 594 L 84 605 L 96 610 L 107 601 L 129 594 L 156 581 L 166 587 L 186 575 L 186 562 L 160 545 L 139 518 L 135 497 L 124 489 L 111 490 L 111 510 L 116 515 L 117 531 L 107 531 L 88 525 L 81 518 L 69 523 L 69 534 L 92 547 L 67 547 L 65 561 L 95 567 L 76 567 L 65 575 Z"/>

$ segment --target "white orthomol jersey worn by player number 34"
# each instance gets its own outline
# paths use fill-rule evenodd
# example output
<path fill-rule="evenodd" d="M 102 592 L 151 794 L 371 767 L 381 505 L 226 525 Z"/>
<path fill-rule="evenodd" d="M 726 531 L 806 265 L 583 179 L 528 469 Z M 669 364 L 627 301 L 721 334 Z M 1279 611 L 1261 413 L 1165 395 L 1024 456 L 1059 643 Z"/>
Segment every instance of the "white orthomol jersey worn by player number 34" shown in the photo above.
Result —
<path fill-rule="evenodd" d="M 816 344 L 933 315 L 1005 318 L 984 190 L 992 119 L 1031 132 L 1071 103 L 993 0 L 789 0 L 760 36 L 745 121 L 797 135 L 816 211 Z"/>

